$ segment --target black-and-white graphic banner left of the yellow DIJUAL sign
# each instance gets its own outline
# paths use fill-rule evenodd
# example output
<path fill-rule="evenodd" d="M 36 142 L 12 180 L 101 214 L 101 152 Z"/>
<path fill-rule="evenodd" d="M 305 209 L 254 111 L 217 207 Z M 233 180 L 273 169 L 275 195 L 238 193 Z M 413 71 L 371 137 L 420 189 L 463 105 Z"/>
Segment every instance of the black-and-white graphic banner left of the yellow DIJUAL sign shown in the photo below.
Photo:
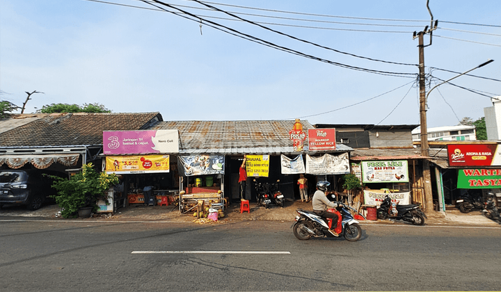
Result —
<path fill-rule="evenodd" d="M 177 156 L 177 168 L 183 177 L 193 175 L 223 175 L 225 156 L 190 155 Z"/>

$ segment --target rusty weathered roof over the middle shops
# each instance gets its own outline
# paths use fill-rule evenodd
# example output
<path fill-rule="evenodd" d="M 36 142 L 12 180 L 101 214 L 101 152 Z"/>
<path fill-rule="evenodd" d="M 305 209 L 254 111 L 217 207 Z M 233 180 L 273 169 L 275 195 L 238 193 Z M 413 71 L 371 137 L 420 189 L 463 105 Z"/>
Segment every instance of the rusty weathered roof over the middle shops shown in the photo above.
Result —
<path fill-rule="evenodd" d="M 315 129 L 310 122 L 301 120 L 303 131 Z M 294 120 L 241 120 L 241 121 L 164 121 L 150 129 L 177 129 L 180 133 L 180 153 L 209 154 L 299 154 L 294 152 L 289 131 Z M 351 151 L 339 145 L 335 151 Z M 308 151 L 301 153 L 316 154 Z"/>

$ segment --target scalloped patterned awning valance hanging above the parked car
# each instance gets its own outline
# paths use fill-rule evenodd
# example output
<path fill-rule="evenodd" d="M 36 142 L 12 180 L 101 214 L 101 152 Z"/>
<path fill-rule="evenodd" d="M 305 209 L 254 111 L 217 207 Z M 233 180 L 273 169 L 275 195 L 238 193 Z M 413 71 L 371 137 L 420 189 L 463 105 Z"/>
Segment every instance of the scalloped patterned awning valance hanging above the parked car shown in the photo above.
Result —
<path fill-rule="evenodd" d="M 31 163 L 35 168 L 45 169 L 52 163 L 61 163 L 66 166 L 77 165 L 80 154 L 38 154 L 38 155 L 1 155 L 0 166 L 6 163 L 9 168 L 22 168 Z"/>

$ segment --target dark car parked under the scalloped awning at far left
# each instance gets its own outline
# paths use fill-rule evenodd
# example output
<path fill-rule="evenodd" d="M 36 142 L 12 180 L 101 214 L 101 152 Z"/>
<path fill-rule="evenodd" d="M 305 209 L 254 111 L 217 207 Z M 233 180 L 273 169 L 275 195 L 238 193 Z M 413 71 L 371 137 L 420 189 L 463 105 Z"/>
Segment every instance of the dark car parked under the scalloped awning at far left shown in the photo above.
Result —
<path fill-rule="evenodd" d="M 47 175 L 65 177 L 49 170 L 0 170 L 0 208 L 4 204 L 26 205 L 29 210 L 40 209 L 49 196 L 57 191 L 51 187 L 54 179 Z"/>

